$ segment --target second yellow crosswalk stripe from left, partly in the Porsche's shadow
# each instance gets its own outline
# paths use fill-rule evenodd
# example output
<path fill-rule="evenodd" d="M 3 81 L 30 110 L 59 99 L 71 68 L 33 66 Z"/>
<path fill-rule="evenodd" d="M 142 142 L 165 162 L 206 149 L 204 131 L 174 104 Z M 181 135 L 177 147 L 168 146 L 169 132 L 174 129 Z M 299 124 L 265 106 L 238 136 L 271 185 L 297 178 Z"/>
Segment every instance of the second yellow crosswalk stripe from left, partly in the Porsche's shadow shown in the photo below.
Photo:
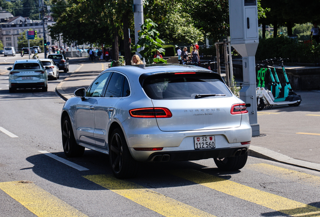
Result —
<path fill-rule="evenodd" d="M 151 189 L 117 179 L 111 175 L 88 175 L 84 177 L 165 216 L 214 216 Z"/>

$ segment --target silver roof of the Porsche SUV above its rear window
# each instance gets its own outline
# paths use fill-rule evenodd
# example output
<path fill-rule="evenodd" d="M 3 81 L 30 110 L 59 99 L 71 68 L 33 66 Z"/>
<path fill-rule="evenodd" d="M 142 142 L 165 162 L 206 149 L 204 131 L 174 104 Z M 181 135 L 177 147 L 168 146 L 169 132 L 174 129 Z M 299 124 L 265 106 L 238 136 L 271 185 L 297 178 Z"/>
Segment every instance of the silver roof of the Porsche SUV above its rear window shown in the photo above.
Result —
<path fill-rule="evenodd" d="M 118 66 L 111 67 L 106 71 L 118 71 L 124 74 L 131 74 L 140 76 L 141 74 L 150 73 L 169 73 L 169 72 L 188 72 L 188 71 L 201 71 L 201 72 L 212 72 L 209 69 L 202 68 L 199 66 L 192 65 L 170 65 L 170 64 L 148 64 L 148 65 L 134 65 L 134 66 Z"/>

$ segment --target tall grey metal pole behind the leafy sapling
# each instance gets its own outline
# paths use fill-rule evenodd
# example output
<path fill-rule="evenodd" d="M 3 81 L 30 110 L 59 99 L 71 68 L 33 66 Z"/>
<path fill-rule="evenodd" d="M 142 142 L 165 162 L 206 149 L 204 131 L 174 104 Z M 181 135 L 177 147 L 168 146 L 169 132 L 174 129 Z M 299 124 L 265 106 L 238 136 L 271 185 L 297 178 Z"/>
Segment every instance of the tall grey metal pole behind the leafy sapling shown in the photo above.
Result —
<path fill-rule="evenodd" d="M 143 24 L 143 3 L 142 0 L 133 0 L 133 9 L 134 9 L 134 44 L 137 44 L 139 41 L 139 32 L 141 30 L 141 25 Z M 135 54 L 140 58 L 141 55 L 138 53 L 143 48 L 138 48 Z M 144 61 L 144 60 L 143 60 Z"/>

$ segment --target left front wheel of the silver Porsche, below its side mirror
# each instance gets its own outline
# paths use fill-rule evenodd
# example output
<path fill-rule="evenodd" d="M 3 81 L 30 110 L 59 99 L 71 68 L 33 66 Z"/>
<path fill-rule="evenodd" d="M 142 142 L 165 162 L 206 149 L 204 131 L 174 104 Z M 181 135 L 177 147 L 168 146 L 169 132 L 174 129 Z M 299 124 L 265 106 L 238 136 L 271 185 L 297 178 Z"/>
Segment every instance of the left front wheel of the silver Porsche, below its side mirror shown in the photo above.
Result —
<path fill-rule="evenodd" d="M 70 118 L 66 116 L 62 122 L 62 146 L 65 156 L 81 157 L 85 153 L 85 147 L 79 146 L 75 142 Z"/>

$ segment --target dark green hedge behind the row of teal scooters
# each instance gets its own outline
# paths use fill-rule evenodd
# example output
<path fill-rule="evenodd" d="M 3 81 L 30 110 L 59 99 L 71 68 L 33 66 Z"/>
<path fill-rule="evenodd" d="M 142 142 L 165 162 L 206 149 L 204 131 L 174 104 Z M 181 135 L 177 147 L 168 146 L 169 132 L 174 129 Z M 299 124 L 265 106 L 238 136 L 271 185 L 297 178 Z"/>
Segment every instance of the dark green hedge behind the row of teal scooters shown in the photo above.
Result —
<path fill-rule="evenodd" d="M 256 60 L 274 57 L 289 58 L 290 62 L 320 62 L 320 45 L 299 42 L 285 36 L 262 39 L 256 53 Z"/>

